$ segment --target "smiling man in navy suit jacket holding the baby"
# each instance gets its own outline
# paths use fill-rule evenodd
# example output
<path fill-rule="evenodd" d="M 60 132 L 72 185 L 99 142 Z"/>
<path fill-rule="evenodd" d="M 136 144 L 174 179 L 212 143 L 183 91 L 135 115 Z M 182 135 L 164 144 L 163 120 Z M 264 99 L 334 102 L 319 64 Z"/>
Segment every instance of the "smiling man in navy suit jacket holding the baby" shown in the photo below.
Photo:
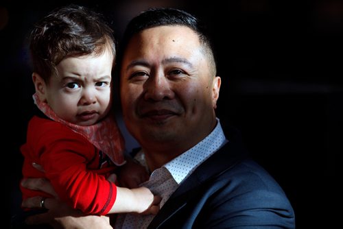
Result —
<path fill-rule="evenodd" d="M 224 135 L 215 116 L 221 79 L 202 29 L 175 9 L 147 10 L 126 29 L 118 64 L 123 119 L 141 145 L 135 158 L 152 172 L 142 185 L 163 200 L 155 217 L 119 215 L 114 227 L 295 228 L 279 184 L 248 158 L 233 130 Z"/>

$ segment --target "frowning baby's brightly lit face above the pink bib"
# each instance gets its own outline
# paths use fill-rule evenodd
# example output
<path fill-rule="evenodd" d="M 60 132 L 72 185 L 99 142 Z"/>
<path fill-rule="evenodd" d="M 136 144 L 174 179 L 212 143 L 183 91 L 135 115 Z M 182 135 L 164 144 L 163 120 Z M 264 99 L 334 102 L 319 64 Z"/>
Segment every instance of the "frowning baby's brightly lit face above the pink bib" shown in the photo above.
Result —
<path fill-rule="evenodd" d="M 47 85 L 47 104 L 70 123 L 97 123 L 110 110 L 112 67 L 110 51 L 62 60 Z"/>

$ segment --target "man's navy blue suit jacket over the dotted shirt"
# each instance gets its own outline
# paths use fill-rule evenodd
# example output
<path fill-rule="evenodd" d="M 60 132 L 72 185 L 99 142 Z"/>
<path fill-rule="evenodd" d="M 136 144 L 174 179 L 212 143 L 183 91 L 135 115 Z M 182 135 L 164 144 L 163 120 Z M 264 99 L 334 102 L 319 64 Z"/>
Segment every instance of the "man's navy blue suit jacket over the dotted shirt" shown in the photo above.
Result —
<path fill-rule="evenodd" d="M 180 184 L 148 228 L 295 228 L 295 219 L 279 184 L 229 138 Z"/>

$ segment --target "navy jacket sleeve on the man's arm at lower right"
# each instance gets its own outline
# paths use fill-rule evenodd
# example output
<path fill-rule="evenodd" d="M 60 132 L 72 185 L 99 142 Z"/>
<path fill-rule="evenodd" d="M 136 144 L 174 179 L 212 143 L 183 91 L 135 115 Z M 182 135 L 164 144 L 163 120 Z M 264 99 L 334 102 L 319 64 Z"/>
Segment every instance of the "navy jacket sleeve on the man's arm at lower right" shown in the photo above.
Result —
<path fill-rule="evenodd" d="M 205 228 L 295 228 L 294 211 L 276 181 L 250 162 L 213 182 L 200 215 Z M 230 172 L 229 172 L 230 173 Z M 212 190 L 212 191 L 210 191 Z M 199 215 L 199 219 L 202 217 Z"/>

